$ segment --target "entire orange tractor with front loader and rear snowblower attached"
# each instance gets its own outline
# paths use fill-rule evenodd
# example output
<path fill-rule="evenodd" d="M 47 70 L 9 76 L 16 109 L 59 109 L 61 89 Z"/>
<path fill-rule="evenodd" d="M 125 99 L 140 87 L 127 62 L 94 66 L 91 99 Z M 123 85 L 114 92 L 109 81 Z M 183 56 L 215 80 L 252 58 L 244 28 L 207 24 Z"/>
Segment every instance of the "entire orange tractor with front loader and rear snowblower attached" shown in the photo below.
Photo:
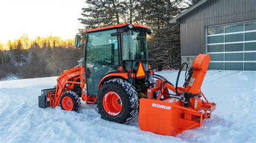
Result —
<path fill-rule="evenodd" d="M 79 111 L 81 98 L 97 103 L 105 120 L 129 124 L 139 115 L 144 131 L 175 136 L 200 127 L 216 106 L 200 89 L 210 56 L 199 54 L 191 68 L 183 63 L 174 86 L 148 64 L 146 35 L 151 33 L 147 26 L 120 24 L 77 34 L 76 47 L 85 41 L 84 60 L 63 71 L 55 88 L 42 90 L 39 107 Z M 178 87 L 184 66 L 185 82 Z"/>

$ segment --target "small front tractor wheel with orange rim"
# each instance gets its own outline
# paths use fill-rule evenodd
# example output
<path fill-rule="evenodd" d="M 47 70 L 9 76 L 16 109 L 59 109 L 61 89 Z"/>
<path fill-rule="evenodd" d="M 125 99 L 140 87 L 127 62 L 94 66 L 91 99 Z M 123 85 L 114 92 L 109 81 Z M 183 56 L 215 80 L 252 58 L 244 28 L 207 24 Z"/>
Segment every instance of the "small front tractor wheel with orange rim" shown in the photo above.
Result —
<path fill-rule="evenodd" d="M 63 110 L 71 110 L 78 112 L 80 109 L 80 99 L 78 95 L 73 91 L 66 91 L 60 97 L 59 106 Z"/>

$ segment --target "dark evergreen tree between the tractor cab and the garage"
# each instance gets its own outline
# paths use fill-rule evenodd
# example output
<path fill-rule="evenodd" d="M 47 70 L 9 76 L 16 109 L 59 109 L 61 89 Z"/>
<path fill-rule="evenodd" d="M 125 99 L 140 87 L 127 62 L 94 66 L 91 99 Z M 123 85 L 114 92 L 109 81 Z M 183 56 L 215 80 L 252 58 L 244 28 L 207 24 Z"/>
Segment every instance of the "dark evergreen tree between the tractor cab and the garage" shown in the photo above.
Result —
<path fill-rule="evenodd" d="M 155 33 L 149 39 L 149 57 L 153 68 L 178 68 L 180 65 L 180 28 L 169 20 L 187 8 L 183 2 L 142 2 L 144 19 L 140 23 L 150 26 Z"/>

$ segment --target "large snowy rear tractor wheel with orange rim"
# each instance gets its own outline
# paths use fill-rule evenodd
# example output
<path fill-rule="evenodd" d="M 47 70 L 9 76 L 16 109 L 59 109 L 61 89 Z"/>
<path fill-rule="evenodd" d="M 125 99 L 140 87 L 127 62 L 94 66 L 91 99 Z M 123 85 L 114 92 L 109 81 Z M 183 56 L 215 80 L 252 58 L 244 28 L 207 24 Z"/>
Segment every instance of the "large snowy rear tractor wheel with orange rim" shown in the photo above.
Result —
<path fill-rule="evenodd" d="M 98 91 L 97 107 L 105 120 L 129 124 L 138 116 L 139 98 L 131 83 L 115 78 Z"/>

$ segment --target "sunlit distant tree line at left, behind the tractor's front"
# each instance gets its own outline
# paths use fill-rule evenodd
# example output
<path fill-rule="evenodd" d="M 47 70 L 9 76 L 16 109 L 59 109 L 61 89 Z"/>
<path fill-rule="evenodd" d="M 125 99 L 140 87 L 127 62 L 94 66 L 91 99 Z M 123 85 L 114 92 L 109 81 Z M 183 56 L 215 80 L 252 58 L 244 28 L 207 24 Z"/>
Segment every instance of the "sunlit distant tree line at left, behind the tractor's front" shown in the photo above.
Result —
<path fill-rule="evenodd" d="M 58 76 L 69 69 L 83 56 L 83 48 L 73 48 L 75 39 L 59 37 L 21 38 L 0 44 L 0 79 L 9 76 L 18 78 Z"/>

